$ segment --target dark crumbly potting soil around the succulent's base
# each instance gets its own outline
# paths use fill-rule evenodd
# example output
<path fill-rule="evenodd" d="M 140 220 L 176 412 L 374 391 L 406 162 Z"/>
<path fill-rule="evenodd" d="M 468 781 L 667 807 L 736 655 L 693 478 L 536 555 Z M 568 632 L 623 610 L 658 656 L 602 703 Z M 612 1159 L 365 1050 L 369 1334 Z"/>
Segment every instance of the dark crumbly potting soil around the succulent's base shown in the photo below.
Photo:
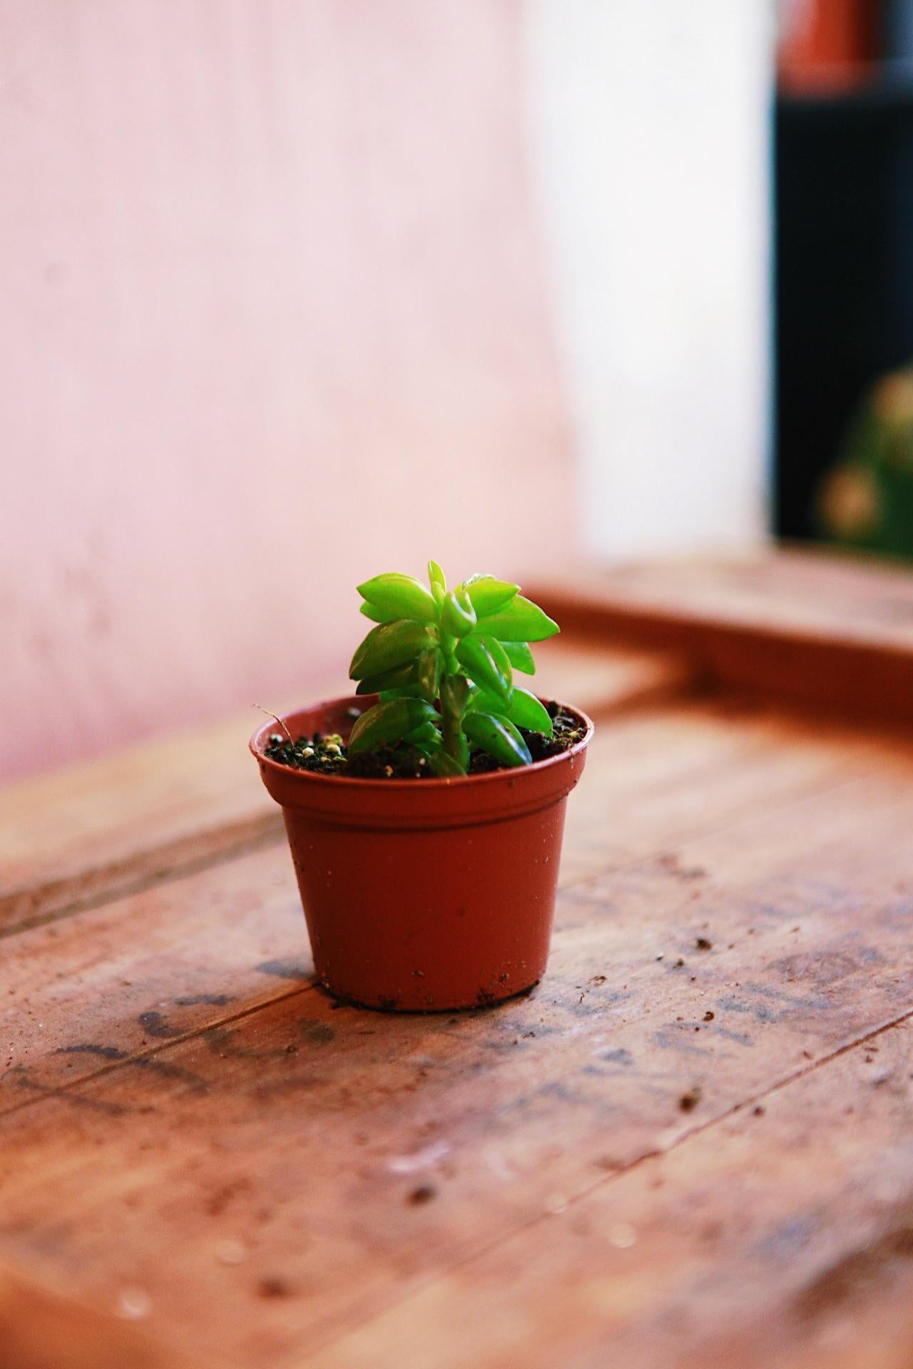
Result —
<path fill-rule="evenodd" d="M 583 737 L 583 727 L 558 704 L 546 704 L 552 717 L 552 737 L 545 732 L 527 732 L 519 728 L 523 741 L 530 747 L 534 761 L 546 756 L 560 756 L 568 752 Z M 359 711 L 352 709 L 352 720 Z M 397 746 L 378 746 L 372 752 L 349 757 L 345 742 L 338 732 L 313 737 L 298 737 L 290 741 L 282 732 L 271 732 L 266 747 L 270 760 L 293 769 L 318 771 L 320 775 L 342 775 L 349 779 L 434 779 L 434 772 L 424 756 L 413 746 L 400 742 Z M 498 765 L 487 752 L 474 750 L 470 754 L 470 775 L 485 775 L 487 771 L 506 769 Z"/>

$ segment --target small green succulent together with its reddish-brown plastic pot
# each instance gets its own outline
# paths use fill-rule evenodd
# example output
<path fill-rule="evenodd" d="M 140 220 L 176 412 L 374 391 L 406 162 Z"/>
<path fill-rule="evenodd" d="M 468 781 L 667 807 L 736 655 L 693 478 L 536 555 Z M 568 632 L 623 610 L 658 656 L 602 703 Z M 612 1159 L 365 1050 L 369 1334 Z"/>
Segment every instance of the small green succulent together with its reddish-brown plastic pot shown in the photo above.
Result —
<path fill-rule="evenodd" d="M 474 575 L 359 586 L 376 626 L 353 697 L 260 727 L 318 976 L 370 1008 L 509 998 L 542 976 L 569 791 L 593 723 L 513 683 L 558 631 L 519 586 Z"/>

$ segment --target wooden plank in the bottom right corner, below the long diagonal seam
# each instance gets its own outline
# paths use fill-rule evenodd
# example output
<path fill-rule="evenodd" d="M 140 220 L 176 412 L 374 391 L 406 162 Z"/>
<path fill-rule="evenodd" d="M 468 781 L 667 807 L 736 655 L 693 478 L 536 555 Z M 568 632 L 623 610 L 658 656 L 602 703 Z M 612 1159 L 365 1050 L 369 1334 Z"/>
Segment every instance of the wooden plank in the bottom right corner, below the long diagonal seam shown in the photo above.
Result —
<path fill-rule="evenodd" d="M 871 1083 L 866 1045 L 891 1083 Z M 597 1181 L 298 1364 L 814 1364 L 846 1339 L 860 1295 L 875 1288 L 884 1313 L 882 1290 L 909 1288 L 912 1050 L 908 1020 L 768 1094 L 761 1116 L 742 1109 Z M 846 1362 L 909 1365 L 910 1342 L 901 1358 L 886 1339 L 892 1358 Z"/>

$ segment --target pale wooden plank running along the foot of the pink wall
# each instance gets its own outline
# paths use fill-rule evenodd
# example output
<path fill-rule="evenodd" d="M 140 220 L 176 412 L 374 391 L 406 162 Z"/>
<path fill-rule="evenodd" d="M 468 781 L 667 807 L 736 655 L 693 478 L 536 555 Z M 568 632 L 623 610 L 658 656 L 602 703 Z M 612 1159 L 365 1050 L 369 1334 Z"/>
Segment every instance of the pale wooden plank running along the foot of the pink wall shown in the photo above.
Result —
<path fill-rule="evenodd" d="M 557 643 L 545 643 L 538 686 L 601 716 L 684 684 L 668 654 Z M 345 689 L 318 683 L 309 697 Z M 0 932 L 278 839 L 279 810 L 246 749 L 257 716 L 0 790 Z"/>

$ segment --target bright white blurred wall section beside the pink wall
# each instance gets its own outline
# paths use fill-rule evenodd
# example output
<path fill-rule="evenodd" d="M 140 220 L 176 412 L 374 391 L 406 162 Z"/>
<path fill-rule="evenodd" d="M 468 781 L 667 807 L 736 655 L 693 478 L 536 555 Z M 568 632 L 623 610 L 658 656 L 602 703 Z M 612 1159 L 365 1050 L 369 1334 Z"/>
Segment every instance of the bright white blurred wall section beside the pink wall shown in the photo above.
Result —
<path fill-rule="evenodd" d="M 767 530 L 771 0 L 528 0 L 587 550 Z"/>

